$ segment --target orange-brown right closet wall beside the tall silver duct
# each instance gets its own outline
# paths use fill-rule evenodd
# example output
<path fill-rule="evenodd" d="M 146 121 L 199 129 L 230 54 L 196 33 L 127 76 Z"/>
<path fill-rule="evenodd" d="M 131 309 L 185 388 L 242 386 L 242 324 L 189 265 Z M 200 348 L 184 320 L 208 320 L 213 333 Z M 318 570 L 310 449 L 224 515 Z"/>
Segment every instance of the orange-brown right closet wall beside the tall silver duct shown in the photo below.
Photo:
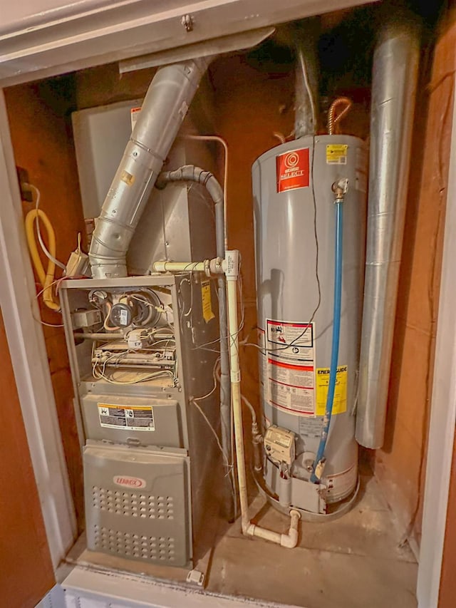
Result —
<path fill-rule="evenodd" d="M 415 115 L 403 260 L 395 319 L 385 445 L 375 473 L 400 525 L 420 544 L 442 236 L 452 128 L 455 29 L 423 53 Z M 429 43 L 432 45 L 432 41 Z"/>

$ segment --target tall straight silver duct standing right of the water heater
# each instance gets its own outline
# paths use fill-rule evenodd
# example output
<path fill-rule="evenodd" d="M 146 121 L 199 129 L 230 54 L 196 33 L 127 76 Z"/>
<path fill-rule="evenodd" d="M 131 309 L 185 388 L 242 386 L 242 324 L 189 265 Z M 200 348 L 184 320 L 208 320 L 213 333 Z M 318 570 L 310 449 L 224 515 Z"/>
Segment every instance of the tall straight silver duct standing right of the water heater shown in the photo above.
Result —
<path fill-rule="evenodd" d="M 366 275 L 356 440 L 380 448 L 385 433 L 398 275 L 407 201 L 420 29 L 383 27 L 373 58 Z"/>

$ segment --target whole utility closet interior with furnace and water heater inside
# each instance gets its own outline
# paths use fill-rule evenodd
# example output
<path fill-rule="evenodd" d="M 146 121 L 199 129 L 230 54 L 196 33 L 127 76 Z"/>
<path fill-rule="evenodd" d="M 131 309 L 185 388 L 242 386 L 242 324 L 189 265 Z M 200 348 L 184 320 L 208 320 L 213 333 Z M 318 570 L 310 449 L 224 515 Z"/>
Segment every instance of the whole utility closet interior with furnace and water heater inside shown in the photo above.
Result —
<path fill-rule="evenodd" d="M 451 18 L 380 1 L 5 89 L 61 572 L 416 606 Z"/>

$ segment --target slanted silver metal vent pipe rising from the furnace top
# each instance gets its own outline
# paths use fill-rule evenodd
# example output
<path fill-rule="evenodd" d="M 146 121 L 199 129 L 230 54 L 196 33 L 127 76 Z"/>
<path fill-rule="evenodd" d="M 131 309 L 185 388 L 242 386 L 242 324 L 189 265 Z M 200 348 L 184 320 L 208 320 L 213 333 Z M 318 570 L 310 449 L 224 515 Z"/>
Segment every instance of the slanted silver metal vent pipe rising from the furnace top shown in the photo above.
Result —
<path fill-rule="evenodd" d="M 135 228 L 211 60 L 175 63 L 155 74 L 96 222 L 89 252 L 93 278 L 127 276 Z"/>

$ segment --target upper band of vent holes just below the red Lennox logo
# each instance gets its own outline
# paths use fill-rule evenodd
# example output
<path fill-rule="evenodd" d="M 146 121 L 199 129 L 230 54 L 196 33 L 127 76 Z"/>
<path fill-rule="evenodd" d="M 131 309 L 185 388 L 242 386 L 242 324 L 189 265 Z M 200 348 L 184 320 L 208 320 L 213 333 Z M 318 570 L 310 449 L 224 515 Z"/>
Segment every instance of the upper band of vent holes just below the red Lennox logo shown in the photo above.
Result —
<path fill-rule="evenodd" d="M 172 496 L 153 496 L 139 492 L 108 490 L 92 486 L 92 505 L 95 509 L 114 515 L 142 517 L 151 520 L 173 520 L 174 500 Z"/>

